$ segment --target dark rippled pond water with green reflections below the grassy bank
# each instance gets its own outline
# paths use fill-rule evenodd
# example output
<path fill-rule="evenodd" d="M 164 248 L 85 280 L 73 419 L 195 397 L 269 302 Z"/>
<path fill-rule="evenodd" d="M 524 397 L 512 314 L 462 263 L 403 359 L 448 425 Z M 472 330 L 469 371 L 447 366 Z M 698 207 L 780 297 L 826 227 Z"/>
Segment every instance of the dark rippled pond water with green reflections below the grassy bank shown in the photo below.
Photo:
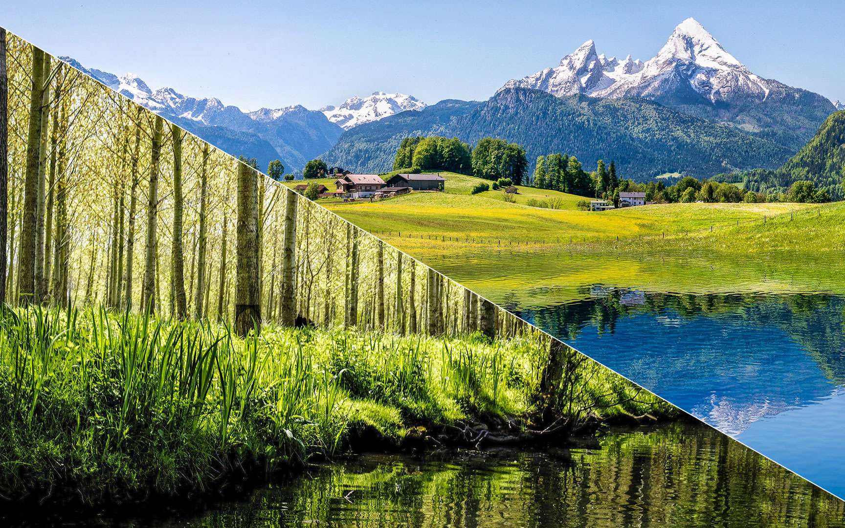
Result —
<path fill-rule="evenodd" d="M 239 502 L 123 526 L 842 526 L 842 502 L 710 427 L 543 452 L 357 455 Z"/>

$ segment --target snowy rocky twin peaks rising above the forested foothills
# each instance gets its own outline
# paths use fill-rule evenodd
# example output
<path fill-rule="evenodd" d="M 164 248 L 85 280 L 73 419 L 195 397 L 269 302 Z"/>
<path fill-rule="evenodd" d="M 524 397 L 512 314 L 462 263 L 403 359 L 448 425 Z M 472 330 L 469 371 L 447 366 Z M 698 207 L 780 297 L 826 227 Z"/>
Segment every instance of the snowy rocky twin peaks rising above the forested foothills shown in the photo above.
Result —
<path fill-rule="evenodd" d="M 801 148 L 837 110 L 822 95 L 752 73 L 695 19 L 678 24 L 645 63 L 630 56 L 619 61 L 597 55 L 593 41 L 586 41 L 557 67 L 504 84 L 516 87 L 558 96 L 644 98 L 792 150 Z"/>

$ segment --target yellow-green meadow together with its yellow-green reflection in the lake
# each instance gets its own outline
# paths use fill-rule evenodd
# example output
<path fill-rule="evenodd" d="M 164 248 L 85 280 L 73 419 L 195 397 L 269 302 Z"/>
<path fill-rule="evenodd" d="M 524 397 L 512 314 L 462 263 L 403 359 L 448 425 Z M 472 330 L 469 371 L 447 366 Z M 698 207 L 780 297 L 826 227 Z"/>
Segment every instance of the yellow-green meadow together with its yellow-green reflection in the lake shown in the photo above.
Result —
<path fill-rule="evenodd" d="M 582 197 L 520 187 L 472 195 L 480 178 L 446 175 L 444 193 L 330 203 L 328 209 L 497 302 L 547 305 L 597 282 L 650 291 L 836 291 L 845 203 L 651 204 L 591 212 Z M 563 195 L 564 207 L 526 205 Z M 765 258 L 746 255 L 766 255 Z M 828 264 L 808 266 L 808 262 Z"/>

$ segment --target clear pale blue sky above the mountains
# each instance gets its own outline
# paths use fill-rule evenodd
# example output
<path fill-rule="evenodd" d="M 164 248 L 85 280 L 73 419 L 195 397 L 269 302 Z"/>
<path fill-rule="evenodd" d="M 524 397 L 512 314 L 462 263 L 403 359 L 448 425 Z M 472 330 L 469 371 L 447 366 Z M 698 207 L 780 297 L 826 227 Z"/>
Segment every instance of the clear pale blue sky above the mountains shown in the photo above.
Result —
<path fill-rule="evenodd" d="M 484 100 L 587 39 L 646 60 L 692 16 L 751 71 L 845 101 L 845 3 L 833 0 L 235 4 L 5 0 L 0 25 L 87 67 L 254 110 L 376 90 Z"/>

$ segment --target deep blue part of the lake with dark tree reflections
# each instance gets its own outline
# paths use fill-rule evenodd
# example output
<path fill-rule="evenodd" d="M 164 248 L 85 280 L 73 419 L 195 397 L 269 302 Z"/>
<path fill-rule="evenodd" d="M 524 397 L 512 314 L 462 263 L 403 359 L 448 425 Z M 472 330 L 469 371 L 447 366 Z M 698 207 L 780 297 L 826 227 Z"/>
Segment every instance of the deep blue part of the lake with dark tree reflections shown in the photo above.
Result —
<path fill-rule="evenodd" d="M 529 321 L 845 497 L 845 299 L 593 286 Z"/>

